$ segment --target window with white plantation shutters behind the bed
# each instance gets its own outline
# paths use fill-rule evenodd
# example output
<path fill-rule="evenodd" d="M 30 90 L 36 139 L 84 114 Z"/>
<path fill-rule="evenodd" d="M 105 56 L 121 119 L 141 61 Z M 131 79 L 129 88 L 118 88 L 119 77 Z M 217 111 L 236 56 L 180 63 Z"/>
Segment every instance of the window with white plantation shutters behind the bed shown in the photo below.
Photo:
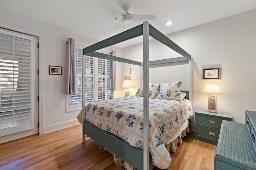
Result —
<path fill-rule="evenodd" d="M 66 111 L 82 108 L 82 47 L 76 47 L 76 78 L 78 94 L 67 95 Z M 85 56 L 85 102 L 114 98 L 112 61 Z"/>

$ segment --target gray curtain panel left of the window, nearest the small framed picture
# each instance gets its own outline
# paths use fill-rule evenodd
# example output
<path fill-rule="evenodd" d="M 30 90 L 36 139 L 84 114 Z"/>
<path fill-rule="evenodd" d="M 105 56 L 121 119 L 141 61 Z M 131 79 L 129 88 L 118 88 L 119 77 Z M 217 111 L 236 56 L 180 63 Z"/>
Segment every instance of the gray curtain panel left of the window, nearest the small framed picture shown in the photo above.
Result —
<path fill-rule="evenodd" d="M 66 94 L 77 94 L 77 85 L 76 85 L 76 47 L 75 40 L 68 38 L 66 42 L 67 53 L 66 53 Z"/>

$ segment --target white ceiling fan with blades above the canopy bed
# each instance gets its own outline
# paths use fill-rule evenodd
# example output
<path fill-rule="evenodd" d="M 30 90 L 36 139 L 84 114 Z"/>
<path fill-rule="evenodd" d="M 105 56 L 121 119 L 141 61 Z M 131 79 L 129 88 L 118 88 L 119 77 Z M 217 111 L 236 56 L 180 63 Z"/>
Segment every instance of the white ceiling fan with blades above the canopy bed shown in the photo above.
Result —
<path fill-rule="evenodd" d="M 108 0 L 108 3 L 122 16 L 122 20 L 119 21 L 119 23 L 122 21 L 124 24 L 129 24 L 131 21 L 149 21 L 149 20 L 156 20 L 156 16 L 149 16 L 149 15 L 134 15 L 129 14 L 129 10 L 131 9 L 131 6 L 129 4 L 124 4 L 122 8 L 118 6 L 113 0 Z M 116 27 L 119 25 L 119 23 L 116 25 Z M 114 30 L 116 29 L 114 28 Z"/>

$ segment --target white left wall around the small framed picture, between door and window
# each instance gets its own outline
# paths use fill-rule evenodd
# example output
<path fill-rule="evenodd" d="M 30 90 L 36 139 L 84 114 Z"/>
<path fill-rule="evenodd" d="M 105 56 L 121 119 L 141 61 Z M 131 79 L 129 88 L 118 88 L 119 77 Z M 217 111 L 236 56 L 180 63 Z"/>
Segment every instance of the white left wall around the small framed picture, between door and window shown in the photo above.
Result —
<path fill-rule="evenodd" d="M 44 133 L 78 123 L 76 116 L 79 111 L 66 113 L 66 41 L 62 38 L 70 37 L 75 39 L 76 42 L 85 45 L 92 45 L 98 41 L 4 10 L 0 11 L 0 21 L 42 33 L 43 44 L 40 44 L 40 47 L 43 48 L 43 63 L 41 63 L 43 70 L 39 71 L 43 72 L 42 83 L 44 98 L 40 98 L 40 100 L 43 100 Z M 78 26 L 79 25 L 74 25 L 74 27 Z M 117 53 L 120 53 L 120 49 L 117 47 L 108 47 L 106 50 L 116 50 Z M 49 75 L 49 65 L 62 66 L 62 75 Z M 117 67 L 120 69 L 120 64 Z M 120 80 L 120 72 L 117 73 L 117 78 Z M 117 93 L 116 96 L 120 96 L 121 85 L 119 84 L 117 84 L 119 94 Z"/>

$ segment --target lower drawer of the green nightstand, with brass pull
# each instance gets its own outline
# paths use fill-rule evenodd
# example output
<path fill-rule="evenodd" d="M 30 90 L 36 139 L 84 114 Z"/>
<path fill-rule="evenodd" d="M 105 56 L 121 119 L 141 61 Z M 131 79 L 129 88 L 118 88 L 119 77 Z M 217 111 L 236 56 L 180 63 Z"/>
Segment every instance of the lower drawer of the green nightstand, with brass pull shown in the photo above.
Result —
<path fill-rule="evenodd" d="M 220 130 L 211 129 L 211 128 L 205 127 L 205 126 L 198 126 L 197 135 L 199 137 L 212 139 L 212 140 L 218 142 L 218 138 L 219 138 L 219 135 L 220 135 Z"/>

